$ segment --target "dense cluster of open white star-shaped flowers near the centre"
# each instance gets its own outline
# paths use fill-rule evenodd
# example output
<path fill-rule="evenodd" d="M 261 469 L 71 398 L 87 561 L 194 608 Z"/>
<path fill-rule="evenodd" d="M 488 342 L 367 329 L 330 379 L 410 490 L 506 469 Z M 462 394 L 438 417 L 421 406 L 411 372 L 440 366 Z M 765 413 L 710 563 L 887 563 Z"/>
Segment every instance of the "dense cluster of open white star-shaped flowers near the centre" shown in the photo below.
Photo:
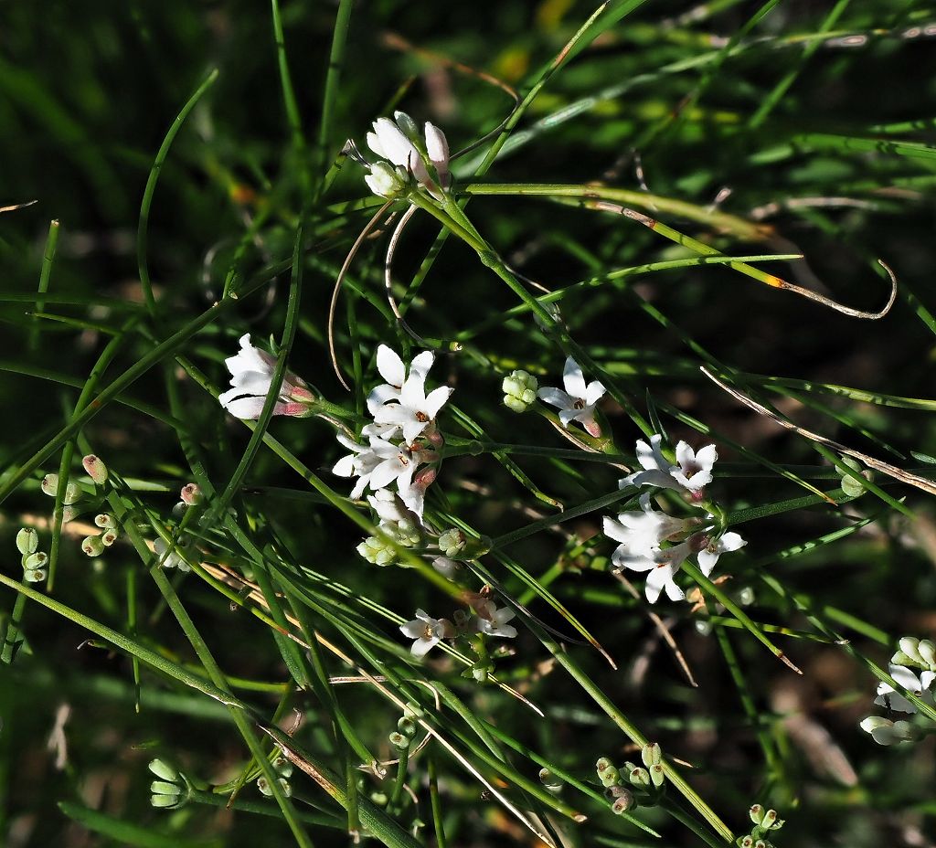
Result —
<path fill-rule="evenodd" d="M 351 497 L 357 500 L 370 488 L 378 493 L 374 510 L 385 521 L 407 519 L 395 499 L 380 495 L 396 485 L 406 509 L 422 520 L 426 490 L 435 479 L 443 445 L 435 417 L 446 404 L 452 389 L 439 387 L 426 393 L 426 377 L 432 367 L 431 352 L 419 354 L 409 369 L 386 344 L 377 349 L 377 371 L 387 381 L 373 389 L 367 399 L 373 423 L 361 431 L 365 442 L 339 434 L 338 441 L 350 454 L 331 469 L 336 475 L 357 477 Z M 419 466 L 427 467 L 419 470 Z M 381 514 L 381 510 L 385 510 Z"/>

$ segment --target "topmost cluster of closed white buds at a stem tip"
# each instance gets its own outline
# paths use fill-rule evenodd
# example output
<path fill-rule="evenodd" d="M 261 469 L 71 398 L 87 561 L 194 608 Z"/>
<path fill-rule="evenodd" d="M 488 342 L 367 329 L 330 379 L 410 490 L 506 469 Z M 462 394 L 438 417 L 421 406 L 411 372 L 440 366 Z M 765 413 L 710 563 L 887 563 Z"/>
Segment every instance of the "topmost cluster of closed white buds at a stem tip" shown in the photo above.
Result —
<path fill-rule="evenodd" d="M 373 122 L 373 132 L 367 134 L 367 146 L 380 156 L 376 162 L 361 157 L 370 169 L 364 182 L 375 195 L 400 196 L 409 190 L 412 177 L 439 199 L 451 183 L 448 142 L 442 130 L 428 121 L 420 133 L 405 112 L 394 112 L 392 121 L 378 118 Z"/>

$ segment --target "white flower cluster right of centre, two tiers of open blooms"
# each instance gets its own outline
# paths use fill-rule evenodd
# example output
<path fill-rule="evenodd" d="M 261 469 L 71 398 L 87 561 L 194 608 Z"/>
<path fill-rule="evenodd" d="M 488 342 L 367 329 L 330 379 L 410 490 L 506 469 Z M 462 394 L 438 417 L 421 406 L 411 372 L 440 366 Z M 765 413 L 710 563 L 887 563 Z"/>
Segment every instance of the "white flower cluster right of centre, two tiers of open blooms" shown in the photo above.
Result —
<path fill-rule="evenodd" d="M 690 504 L 701 507 L 712 465 L 718 459 L 715 446 L 695 453 L 680 442 L 676 447 L 679 464 L 670 465 L 663 455 L 662 441 L 662 436 L 654 435 L 650 445 L 637 442 L 637 461 L 643 471 L 624 477 L 619 485 L 622 489 L 651 486 L 678 490 Z M 699 569 L 709 577 L 723 553 L 747 544 L 737 533 L 722 532 L 710 513 L 704 518 L 674 518 L 652 508 L 650 492 L 644 492 L 639 503 L 639 510 L 622 512 L 617 520 L 606 517 L 604 529 L 607 536 L 621 543 L 611 556 L 615 568 L 649 572 L 644 591 L 651 604 L 656 603 L 660 592 L 666 592 L 672 601 L 685 598 L 674 578 L 690 556 L 695 555 Z"/>

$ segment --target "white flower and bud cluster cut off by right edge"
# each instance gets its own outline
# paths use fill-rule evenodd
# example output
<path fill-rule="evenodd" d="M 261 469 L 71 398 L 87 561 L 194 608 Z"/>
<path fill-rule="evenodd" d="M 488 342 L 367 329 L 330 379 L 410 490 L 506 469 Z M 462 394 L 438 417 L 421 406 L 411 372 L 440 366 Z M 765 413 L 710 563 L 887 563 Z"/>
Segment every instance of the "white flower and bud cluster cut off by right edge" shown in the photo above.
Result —
<path fill-rule="evenodd" d="M 918 669 L 918 672 L 914 669 Z M 926 704 L 934 703 L 936 694 L 936 644 L 929 639 L 904 636 L 899 641 L 899 651 L 890 658 L 887 668 L 890 676 L 909 692 L 914 693 Z M 917 707 L 908 697 L 900 694 L 890 683 L 878 685 L 874 703 L 891 712 L 914 715 Z M 883 716 L 870 715 L 859 725 L 879 745 L 913 741 L 920 737 L 920 730 L 907 721 L 892 721 Z"/>

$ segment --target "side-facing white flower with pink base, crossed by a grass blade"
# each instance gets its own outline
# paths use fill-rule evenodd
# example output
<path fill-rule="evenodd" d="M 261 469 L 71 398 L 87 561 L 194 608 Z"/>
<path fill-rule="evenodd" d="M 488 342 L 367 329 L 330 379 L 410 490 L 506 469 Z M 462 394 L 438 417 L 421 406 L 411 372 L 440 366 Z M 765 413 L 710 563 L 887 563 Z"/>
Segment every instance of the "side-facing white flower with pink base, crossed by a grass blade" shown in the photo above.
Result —
<path fill-rule="evenodd" d="M 256 348 L 250 334 L 241 336 L 241 350 L 225 359 L 231 373 L 231 386 L 218 395 L 218 401 L 234 417 L 254 420 L 260 417 L 263 404 L 270 393 L 276 358 Z M 279 400 L 273 406 L 274 416 L 303 417 L 310 414 L 309 402 L 313 394 L 303 380 L 287 371 L 280 386 Z"/>

